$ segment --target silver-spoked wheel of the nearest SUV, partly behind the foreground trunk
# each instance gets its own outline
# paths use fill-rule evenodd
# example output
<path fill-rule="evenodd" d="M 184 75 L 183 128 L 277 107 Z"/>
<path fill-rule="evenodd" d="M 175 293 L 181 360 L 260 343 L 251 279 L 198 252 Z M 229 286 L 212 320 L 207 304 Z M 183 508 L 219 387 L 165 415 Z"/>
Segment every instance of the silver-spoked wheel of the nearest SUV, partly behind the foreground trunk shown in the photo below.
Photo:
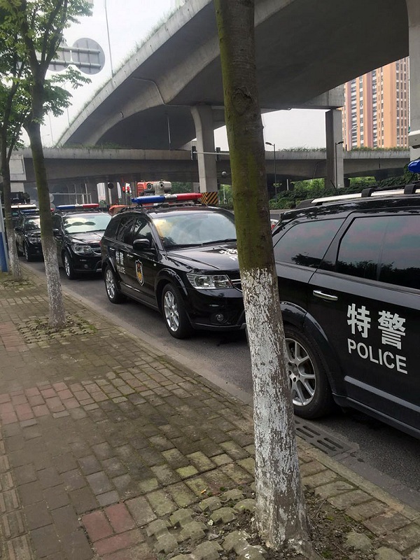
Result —
<path fill-rule="evenodd" d="M 309 337 L 292 325 L 284 326 L 290 391 L 296 416 L 314 419 L 334 407 L 321 352 Z"/>

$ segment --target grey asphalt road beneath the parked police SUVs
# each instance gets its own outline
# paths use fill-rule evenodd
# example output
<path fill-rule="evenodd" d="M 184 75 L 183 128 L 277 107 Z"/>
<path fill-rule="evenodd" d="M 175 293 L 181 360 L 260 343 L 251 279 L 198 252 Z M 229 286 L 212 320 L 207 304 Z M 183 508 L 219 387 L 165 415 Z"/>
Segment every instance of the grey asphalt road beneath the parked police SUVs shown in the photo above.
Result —
<path fill-rule="evenodd" d="M 44 272 L 43 262 L 25 265 L 38 274 Z M 241 400 L 251 402 L 251 360 L 244 332 L 197 332 L 191 339 L 176 340 L 156 311 L 136 302 L 111 304 L 100 276 L 71 281 L 61 271 L 61 277 L 65 292 Z M 337 461 L 420 509 L 419 440 L 356 411 L 338 411 L 316 422 L 298 419 L 297 430 Z"/>

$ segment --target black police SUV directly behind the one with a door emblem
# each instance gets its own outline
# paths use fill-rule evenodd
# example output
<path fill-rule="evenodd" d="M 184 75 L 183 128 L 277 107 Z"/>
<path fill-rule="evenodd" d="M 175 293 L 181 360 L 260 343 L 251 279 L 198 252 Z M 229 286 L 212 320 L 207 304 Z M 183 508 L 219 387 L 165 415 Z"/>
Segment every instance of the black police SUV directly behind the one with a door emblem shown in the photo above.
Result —
<path fill-rule="evenodd" d="M 57 206 L 52 216 L 52 231 L 57 244 L 59 266 L 67 278 L 81 273 L 101 272 L 102 235 L 111 220 L 99 204 Z"/>

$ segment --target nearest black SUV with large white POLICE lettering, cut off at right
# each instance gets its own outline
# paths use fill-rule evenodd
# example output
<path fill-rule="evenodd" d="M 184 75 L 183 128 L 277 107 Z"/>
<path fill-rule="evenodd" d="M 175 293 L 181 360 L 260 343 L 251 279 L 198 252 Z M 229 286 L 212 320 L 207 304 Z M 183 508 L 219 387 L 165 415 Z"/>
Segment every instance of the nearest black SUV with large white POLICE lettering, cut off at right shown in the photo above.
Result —
<path fill-rule="evenodd" d="M 273 241 L 295 413 L 420 437 L 420 183 L 312 200 Z"/>

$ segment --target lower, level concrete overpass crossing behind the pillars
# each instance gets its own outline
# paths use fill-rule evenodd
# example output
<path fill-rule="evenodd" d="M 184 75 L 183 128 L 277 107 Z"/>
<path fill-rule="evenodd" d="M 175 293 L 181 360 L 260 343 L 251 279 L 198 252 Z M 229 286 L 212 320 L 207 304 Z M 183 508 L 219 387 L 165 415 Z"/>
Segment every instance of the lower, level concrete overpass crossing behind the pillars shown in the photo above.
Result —
<path fill-rule="evenodd" d="M 187 150 L 113 150 L 83 148 L 45 148 L 50 192 L 57 191 L 62 185 L 87 183 L 94 193 L 97 183 L 133 182 L 165 179 L 197 183 L 199 169 L 197 161 L 192 161 Z M 35 188 L 34 167 L 29 148 L 18 151 L 25 169 L 22 175 L 12 176 L 12 180 L 25 184 L 25 190 Z M 376 176 L 402 173 L 409 162 L 409 151 L 351 151 L 344 152 L 344 175 Z M 16 166 L 14 166 L 16 167 Z M 266 153 L 267 183 L 274 183 L 274 154 Z M 226 172 L 226 176 L 222 176 Z M 229 155 L 223 153 L 216 163 L 217 177 L 221 182 L 230 183 Z M 316 151 L 278 151 L 276 152 L 276 179 L 299 181 L 325 177 L 326 152 Z M 20 189 L 18 189 L 20 190 Z"/>

